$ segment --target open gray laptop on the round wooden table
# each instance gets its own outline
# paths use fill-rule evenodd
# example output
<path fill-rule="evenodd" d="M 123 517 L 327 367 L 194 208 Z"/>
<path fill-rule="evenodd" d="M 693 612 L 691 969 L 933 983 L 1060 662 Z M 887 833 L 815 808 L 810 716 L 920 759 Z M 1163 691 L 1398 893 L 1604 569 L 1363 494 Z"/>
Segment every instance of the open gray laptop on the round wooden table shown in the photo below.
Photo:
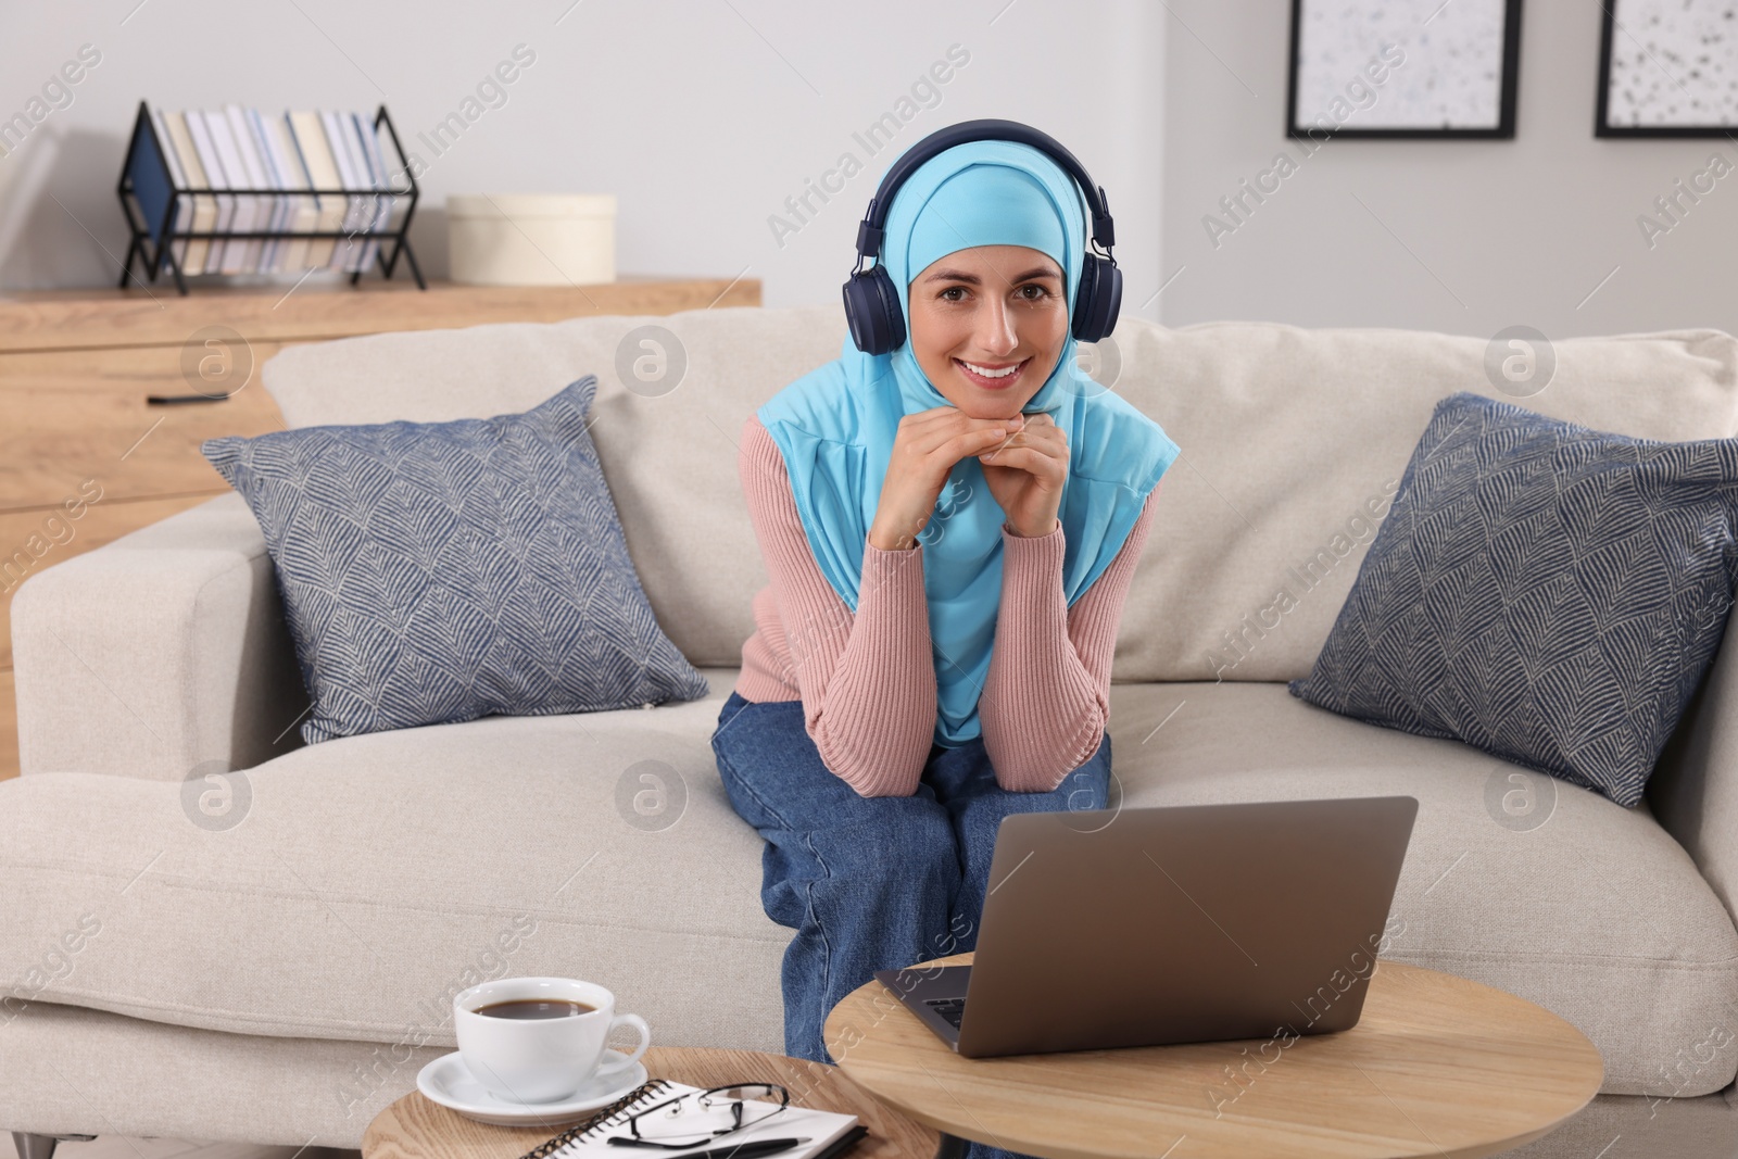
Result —
<path fill-rule="evenodd" d="M 1357 1025 L 1418 801 L 1001 822 L 970 966 L 878 970 L 966 1058 Z"/>

